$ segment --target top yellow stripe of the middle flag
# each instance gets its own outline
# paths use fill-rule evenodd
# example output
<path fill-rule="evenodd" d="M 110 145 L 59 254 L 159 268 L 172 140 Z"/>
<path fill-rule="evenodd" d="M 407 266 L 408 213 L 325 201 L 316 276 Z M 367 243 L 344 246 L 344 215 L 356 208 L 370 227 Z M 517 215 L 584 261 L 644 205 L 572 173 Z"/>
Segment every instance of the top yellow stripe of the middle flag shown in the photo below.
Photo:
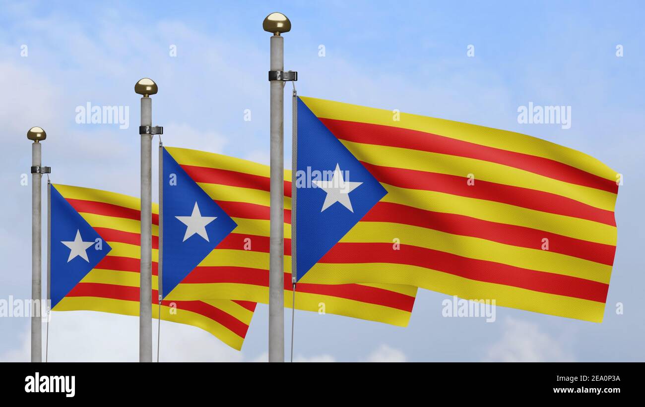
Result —
<path fill-rule="evenodd" d="M 267 177 L 270 175 L 269 166 L 243 160 L 242 158 L 179 147 L 166 147 L 166 150 L 168 150 L 168 153 L 175 158 L 175 161 L 177 161 L 180 166 L 226 169 L 228 171 L 237 171 L 238 173 Z M 284 179 L 291 179 L 290 170 L 284 170 Z"/>

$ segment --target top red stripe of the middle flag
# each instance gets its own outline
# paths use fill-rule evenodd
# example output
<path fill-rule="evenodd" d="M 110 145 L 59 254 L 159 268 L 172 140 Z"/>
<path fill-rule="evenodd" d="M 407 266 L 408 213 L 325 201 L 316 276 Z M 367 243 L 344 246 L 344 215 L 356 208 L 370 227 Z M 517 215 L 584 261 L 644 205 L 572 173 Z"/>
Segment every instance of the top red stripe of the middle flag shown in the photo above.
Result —
<path fill-rule="evenodd" d="M 195 180 L 195 182 L 252 188 L 267 192 L 271 190 L 268 176 L 240 173 L 238 171 L 211 167 L 187 165 L 183 165 L 181 167 L 186 171 L 190 178 Z M 284 181 L 284 195 L 289 197 L 291 196 L 291 182 Z"/>

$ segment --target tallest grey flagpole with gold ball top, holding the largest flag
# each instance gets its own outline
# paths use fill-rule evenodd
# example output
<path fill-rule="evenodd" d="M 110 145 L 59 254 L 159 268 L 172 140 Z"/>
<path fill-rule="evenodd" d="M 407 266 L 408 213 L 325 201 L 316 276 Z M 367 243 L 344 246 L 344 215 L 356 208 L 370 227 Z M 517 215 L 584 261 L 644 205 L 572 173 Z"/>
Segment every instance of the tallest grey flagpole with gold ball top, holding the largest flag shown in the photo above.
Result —
<path fill-rule="evenodd" d="M 284 71 L 281 33 L 291 22 L 281 13 L 266 16 L 264 31 L 272 33 L 269 81 L 271 84 L 270 135 L 270 249 L 269 249 L 269 361 L 284 362 L 284 81 L 295 72 Z"/>

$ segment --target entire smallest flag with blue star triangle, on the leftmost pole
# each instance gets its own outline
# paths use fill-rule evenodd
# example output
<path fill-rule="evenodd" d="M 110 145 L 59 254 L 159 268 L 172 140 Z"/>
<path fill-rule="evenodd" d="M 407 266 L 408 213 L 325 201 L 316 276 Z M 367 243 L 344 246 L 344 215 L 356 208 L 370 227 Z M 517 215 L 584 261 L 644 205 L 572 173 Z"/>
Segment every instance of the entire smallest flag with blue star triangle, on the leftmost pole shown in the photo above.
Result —
<path fill-rule="evenodd" d="M 140 201 L 123 194 L 50 185 L 52 310 L 139 315 Z M 153 205 L 152 298 L 157 308 L 158 207 Z M 163 301 L 161 319 L 202 328 L 241 349 L 255 303 Z"/>

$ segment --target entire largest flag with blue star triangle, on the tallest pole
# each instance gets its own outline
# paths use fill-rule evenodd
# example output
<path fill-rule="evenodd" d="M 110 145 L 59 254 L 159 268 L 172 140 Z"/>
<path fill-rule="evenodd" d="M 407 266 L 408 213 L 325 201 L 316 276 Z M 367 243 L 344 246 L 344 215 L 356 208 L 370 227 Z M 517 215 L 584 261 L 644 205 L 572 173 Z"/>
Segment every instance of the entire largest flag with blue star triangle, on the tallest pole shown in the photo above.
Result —
<path fill-rule="evenodd" d="M 620 175 L 599 160 L 310 97 L 295 151 L 299 281 L 415 285 L 602 322 Z"/>

